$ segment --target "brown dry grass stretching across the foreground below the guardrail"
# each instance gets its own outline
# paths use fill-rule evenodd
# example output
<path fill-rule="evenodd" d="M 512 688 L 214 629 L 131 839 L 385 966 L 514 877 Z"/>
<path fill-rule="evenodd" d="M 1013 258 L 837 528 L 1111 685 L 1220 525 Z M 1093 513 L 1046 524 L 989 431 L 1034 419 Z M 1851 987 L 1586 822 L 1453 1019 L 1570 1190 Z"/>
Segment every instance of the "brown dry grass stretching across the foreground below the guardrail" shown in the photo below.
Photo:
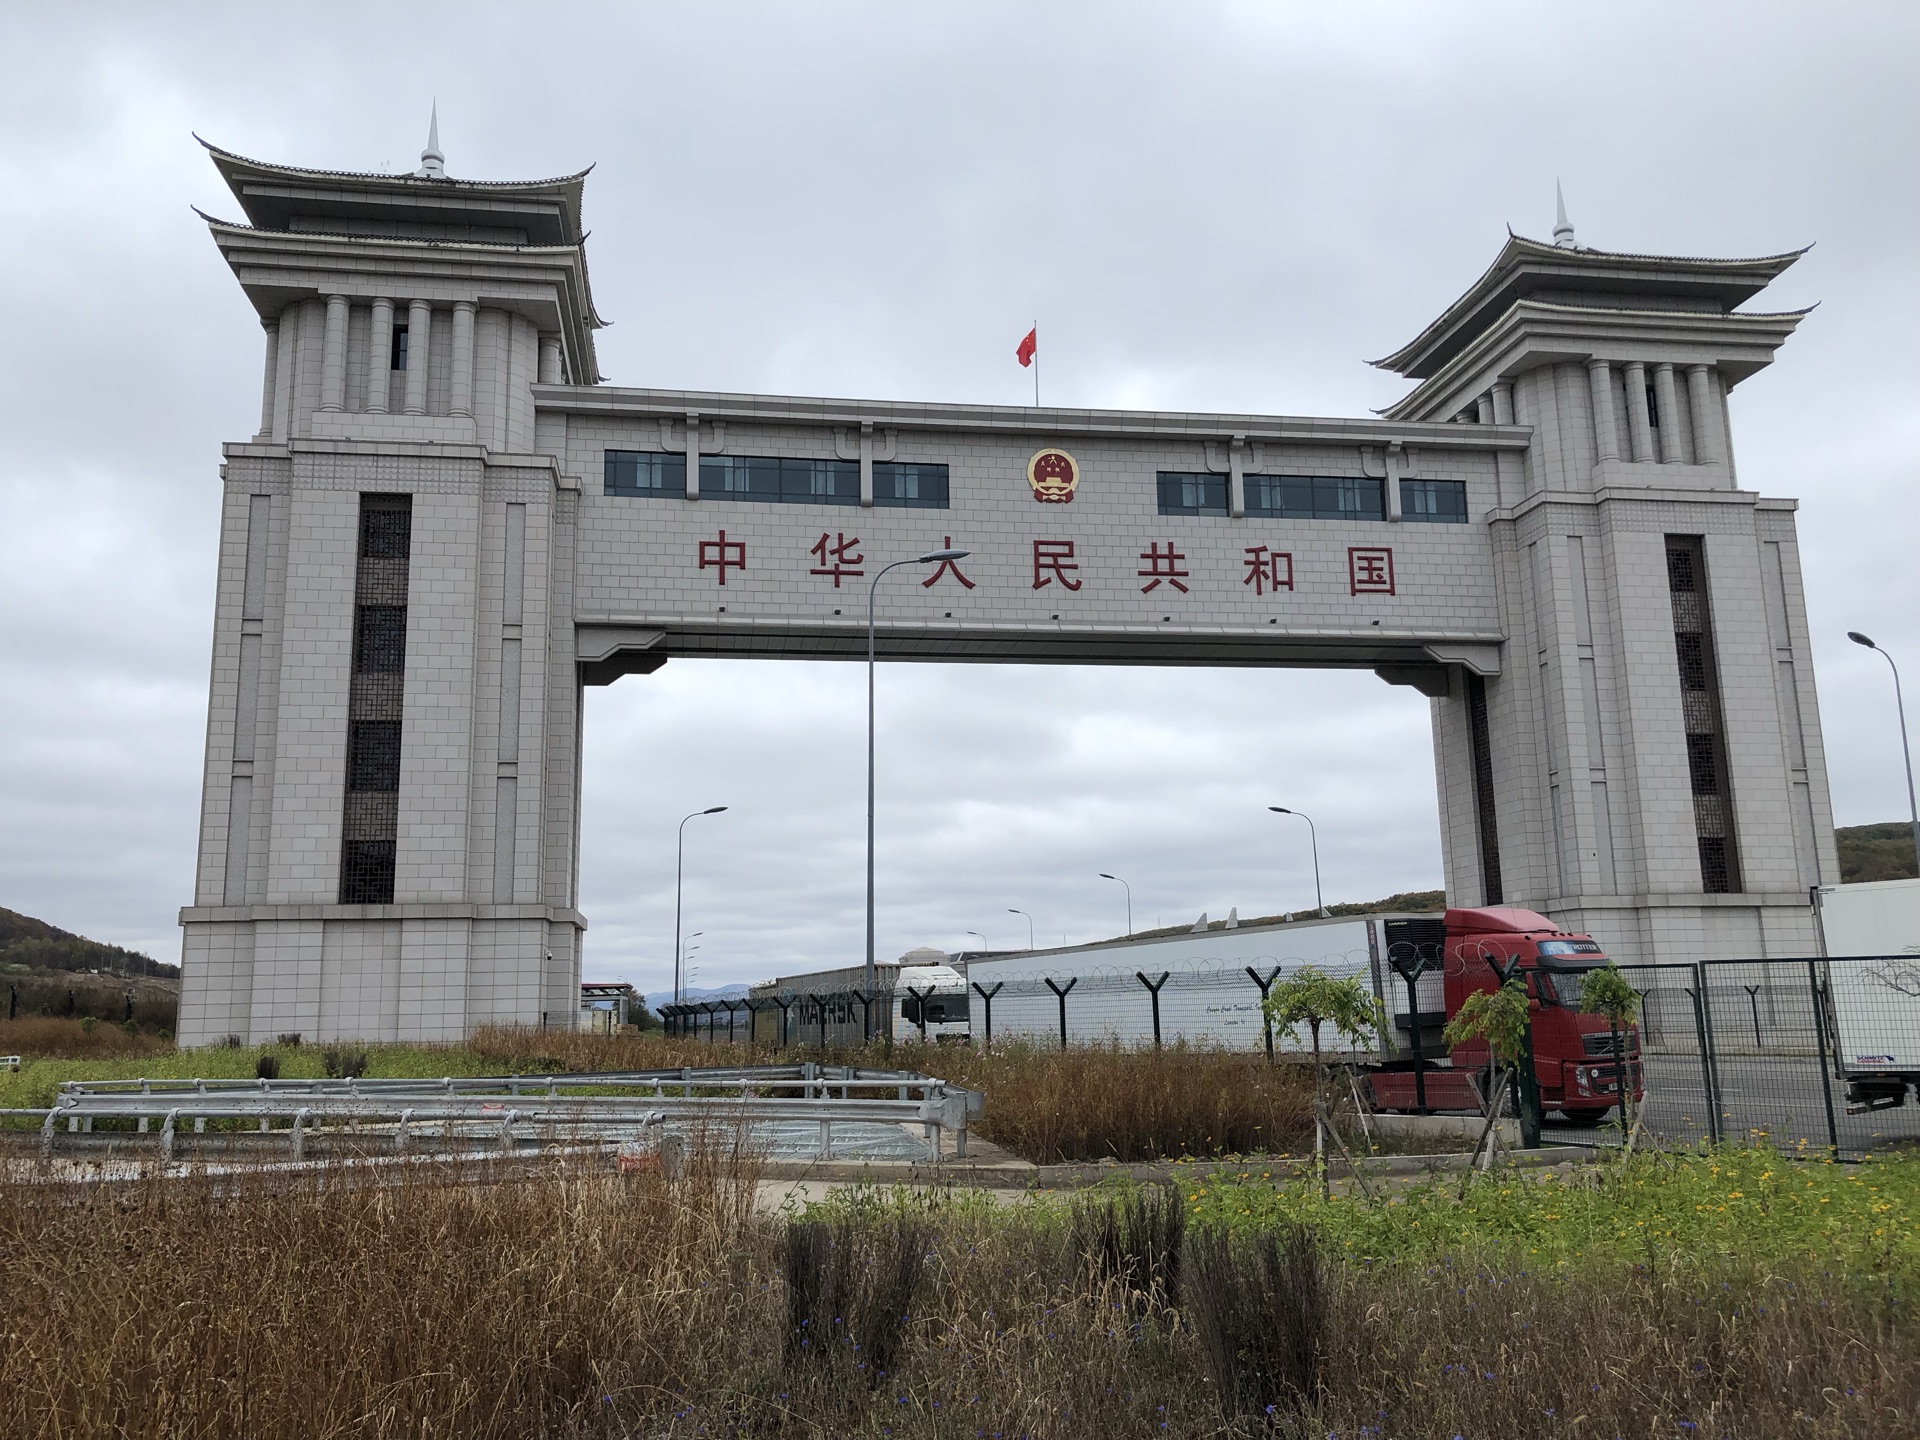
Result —
<path fill-rule="evenodd" d="M 697 1154 L 678 1190 L 426 1165 L 324 1190 L 0 1185 L 0 1434 L 1839 1440 L 1920 1413 L 1912 1296 L 1887 1277 L 1286 1248 L 1231 1296 L 1227 1248 L 1187 1265 L 1221 1292 L 1202 1323 L 1190 1288 L 1087 1254 L 1112 1227 L 1085 1213 L 866 1202 L 795 1250 L 751 1215 L 751 1165 Z M 1302 1267 L 1321 1300 L 1294 1323 L 1317 1332 L 1275 1365 L 1267 1311 Z M 789 1271 L 820 1284 L 789 1296 Z M 831 1327 L 833 1296 L 864 1344 L 899 1346 L 887 1375 L 791 1342 L 795 1319 Z"/>

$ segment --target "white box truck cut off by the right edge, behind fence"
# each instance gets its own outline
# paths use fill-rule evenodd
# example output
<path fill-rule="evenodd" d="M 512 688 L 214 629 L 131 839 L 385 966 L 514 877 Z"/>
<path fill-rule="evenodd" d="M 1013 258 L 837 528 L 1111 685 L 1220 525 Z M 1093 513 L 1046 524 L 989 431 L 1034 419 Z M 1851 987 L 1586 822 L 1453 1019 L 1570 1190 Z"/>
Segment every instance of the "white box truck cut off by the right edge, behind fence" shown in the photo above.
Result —
<path fill-rule="evenodd" d="M 1855 1114 L 1920 1092 L 1920 879 L 1816 885 L 1834 1073 Z"/>

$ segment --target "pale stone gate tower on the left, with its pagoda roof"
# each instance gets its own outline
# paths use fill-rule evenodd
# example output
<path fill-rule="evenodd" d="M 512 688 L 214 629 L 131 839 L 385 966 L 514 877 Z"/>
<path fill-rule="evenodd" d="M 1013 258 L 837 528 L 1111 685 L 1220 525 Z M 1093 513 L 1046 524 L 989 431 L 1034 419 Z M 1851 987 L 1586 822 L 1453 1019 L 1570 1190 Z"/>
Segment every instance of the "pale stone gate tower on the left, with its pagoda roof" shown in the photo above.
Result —
<path fill-rule="evenodd" d="M 599 378 L 584 177 L 453 180 L 438 134 L 413 175 L 209 150 L 267 357 L 221 468 L 180 1041 L 570 1027 L 578 482 L 532 386 Z"/>

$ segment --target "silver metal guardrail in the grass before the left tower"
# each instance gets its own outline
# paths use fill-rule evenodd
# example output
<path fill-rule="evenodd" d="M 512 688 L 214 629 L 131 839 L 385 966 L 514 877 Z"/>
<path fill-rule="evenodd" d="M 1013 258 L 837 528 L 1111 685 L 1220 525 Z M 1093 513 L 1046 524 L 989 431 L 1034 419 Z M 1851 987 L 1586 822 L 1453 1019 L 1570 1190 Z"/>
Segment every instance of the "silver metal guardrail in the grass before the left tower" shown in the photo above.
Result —
<path fill-rule="evenodd" d="M 966 1156 L 968 1119 L 983 1096 L 931 1075 L 852 1066 L 730 1066 L 716 1069 L 599 1071 L 578 1075 L 447 1075 L 442 1079 L 132 1079 L 65 1081 L 40 1123 L 42 1154 L 54 1137 L 90 1133 L 96 1119 L 132 1119 L 150 1133 L 159 1119 L 159 1148 L 173 1156 L 182 1121 L 204 1133 L 209 1119 L 253 1119 L 261 1131 L 284 1121 L 292 1154 L 305 1154 L 311 1127 L 336 1121 L 394 1125 L 394 1146 L 405 1150 L 419 1127 L 440 1125 L 493 1135 L 513 1150 L 516 1127 L 564 1129 L 570 1139 L 630 1137 L 668 1121 L 695 1123 L 816 1123 L 822 1160 L 831 1158 L 833 1123 L 920 1125 L 927 1154 L 939 1164 L 943 1137 L 952 1133 L 956 1158 Z M 538 1137 L 536 1137 L 538 1139 Z"/>

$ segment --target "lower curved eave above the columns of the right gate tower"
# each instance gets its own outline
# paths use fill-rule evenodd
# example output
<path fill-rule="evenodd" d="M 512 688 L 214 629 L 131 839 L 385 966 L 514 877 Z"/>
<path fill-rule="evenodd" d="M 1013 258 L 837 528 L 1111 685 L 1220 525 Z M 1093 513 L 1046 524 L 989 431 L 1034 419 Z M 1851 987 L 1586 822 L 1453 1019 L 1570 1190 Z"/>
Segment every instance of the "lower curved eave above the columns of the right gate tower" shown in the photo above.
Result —
<path fill-rule="evenodd" d="M 1657 332 L 1657 338 L 1667 344 L 1697 344 L 1701 349 L 1738 353 L 1741 348 L 1764 348 L 1770 359 L 1772 348 L 1784 344 L 1788 336 L 1799 328 L 1799 323 L 1812 315 L 1814 309 L 1818 309 L 1818 305 L 1791 311 L 1736 311 L 1732 315 L 1707 315 L 1670 309 L 1601 309 L 1594 305 L 1555 305 L 1540 300 L 1517 300 L 1498 321 L 1494 321 L 1494 324 L 1475 336 L 1465 349 L 1442 365 L 1432 376 L 1423 378 L 1421 384 L 1415 386 L 1404 399 L 1379 411 L 1379 415 L 1402 422 L 1440 422 L 1430 413 L 1434 396 L 1444 397 L 1452 390 L 1463 388 L 1475 378 L 1484 380 L 1490 371 L 1511 378 L 1513 374 L 1532 369 L 1532 365 L 1500 365 L 1501 351 L 1511 351 L 1524 340 L 1532 340 L 1538 349 L 1551 349 L 1551 346 L 1540 342 L 1546 342 L 1551 336 L 1565 336 L 1569 349 L 1580 351 L 1582 355 L 1611 359 L 1607 351 L 1613 349 L 1613 346 L 1603 330 L 1613 326 L 1628 332 Z M 1534 365 L 1544 363 L 1551 361 L 1534 361 Z M 1743 372 L 1730 378 L 1728 384 L 1736 384 L 1740 378 L 1745 378 L 1745 374 L 1751 374 L 1766 363 L 1768 361 L 1763 359 L 1749 365 Z M 1448 403 L 1450 401 L 1442 401 L 1440 409 L 1444 411 Z M 1421 419 L 1423 413 L 1427 419 Z"/>

